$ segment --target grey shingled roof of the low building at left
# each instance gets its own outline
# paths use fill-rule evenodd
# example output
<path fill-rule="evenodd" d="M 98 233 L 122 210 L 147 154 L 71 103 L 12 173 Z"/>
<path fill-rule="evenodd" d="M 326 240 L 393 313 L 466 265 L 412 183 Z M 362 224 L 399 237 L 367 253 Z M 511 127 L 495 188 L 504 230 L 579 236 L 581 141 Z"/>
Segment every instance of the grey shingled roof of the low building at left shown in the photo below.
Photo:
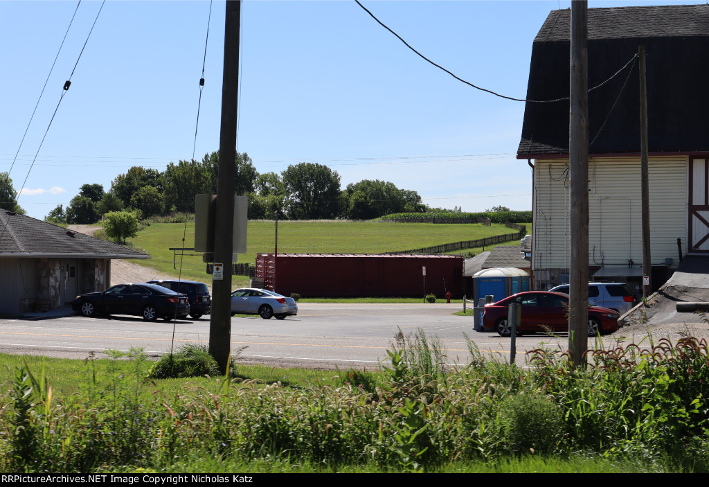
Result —
<path fill-rule="evenodd" d="M 0 211 L 0 257 L 68 256 L 96 259 L 150 257 L 143 252 L 72 232 L 26 215 Z"/>

